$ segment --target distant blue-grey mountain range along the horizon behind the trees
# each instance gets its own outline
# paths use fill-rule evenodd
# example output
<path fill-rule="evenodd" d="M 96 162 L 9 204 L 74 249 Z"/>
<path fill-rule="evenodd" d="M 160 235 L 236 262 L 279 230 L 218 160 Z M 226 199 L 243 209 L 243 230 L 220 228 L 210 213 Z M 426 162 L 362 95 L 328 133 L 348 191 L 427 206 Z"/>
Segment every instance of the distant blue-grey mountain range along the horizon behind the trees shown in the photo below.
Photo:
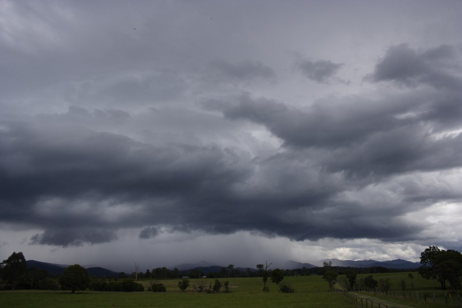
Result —
<path fill-rule="evenodd" d="M 313 268 L 313 267 L 321 267 L 322 263 L 326 261 L 332 262 L 332 266 L 343 266 L 343 267 L 372 267 L 372 266 L 381 266 L 381 267 L 386 267 L 386 268 L 396 268 L 396 269 L 414 269 L 418 268 L 420 266 L 419 262 L 411 262 L 411 261 L 406 261 L 402 259 L 396 259 L 396 260 L 388 260 L 388 261 L 375 261 L 375 260 L 358 260 L 358 261 L 353 261 L 353 260 L 339 260 L 339 259 L 324 259 L 320 261 L 313 262 L 315 264 L 311 263 L 301 263 L 297 261 L 285 261 L 281 263 L 275 263 L 271 266 L 271 268 L 283 268 L 283 269 L 295 269 L 295 268 Z M 46 262 L 40 262 L 40 261 L 35 261 L 35 260 L 27 260 L 27 267 L 36 267 L 40 269 L 44 269 L 45 271 L 48 272 L 48 275 L 51 277 L 59 277 L 63 274 L 64 269 L 69 266 L 69 265 L 64 265 L 64 264 L 53 264 L 53 263 L 46 263 Z M 213 262 L 208 262 L 208 261 L 201 261 L 197 263 L 183 263 L 183 264 L 178 264 L 175 266 L 170 267 L 169 269 L 174 269 L 178 268 L 181 272 L 189 272 L 192 271 L 192 269 L 200 269 L 205 275 L 211 272 L 220 272 L 222 267 L 227 267 L 227 266 L 222 266 L 218 265 Z M 235 267 L 235 269 L 239 269 L 241 273 L 245 273 L 246 267 Z M 93 267 L 87 267 L 88 274 L 90 274 L 91 277 L 117 277 L 120 275 L 120 273 L 110 271 L 110 269 L 103 268 L 103 267 L 98 267 L 98 266 L 93 266 Z M 251 267 L 252 272 L 256 272 L 257 269 L 254 267 Z"/>

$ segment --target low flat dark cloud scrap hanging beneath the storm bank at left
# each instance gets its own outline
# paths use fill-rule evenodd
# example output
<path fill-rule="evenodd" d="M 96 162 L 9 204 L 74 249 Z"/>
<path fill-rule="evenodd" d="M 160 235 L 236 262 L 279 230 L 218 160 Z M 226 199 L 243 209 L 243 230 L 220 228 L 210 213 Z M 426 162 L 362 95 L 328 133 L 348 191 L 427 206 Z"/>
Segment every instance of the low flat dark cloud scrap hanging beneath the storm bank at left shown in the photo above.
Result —
<path fill-rule="evenodd" d="M 84 243 L 100 244 L 117 239 L 117 235 L 103 228 L 53 228 L 46 229 L 42 234 L 35 234 L 30 238 L 29 244 L 81 246 Z"/>

